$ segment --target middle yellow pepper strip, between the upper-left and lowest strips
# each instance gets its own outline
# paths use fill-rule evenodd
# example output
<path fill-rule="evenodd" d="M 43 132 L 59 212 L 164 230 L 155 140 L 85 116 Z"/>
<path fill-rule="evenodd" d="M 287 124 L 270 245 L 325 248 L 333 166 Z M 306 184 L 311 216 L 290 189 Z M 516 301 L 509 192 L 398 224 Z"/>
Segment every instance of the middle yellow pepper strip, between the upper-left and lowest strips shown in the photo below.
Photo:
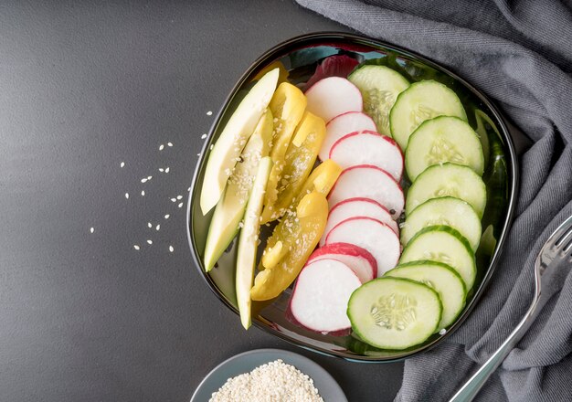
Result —
<path fill-rule="evenodd" d="M 312 172 L 324 137 L 323 119 L 306 111 L 284 155 L 277 200 L 273 205 L 267 205 L 262 212 L 263 224 L 281 217 L 291 206 L 294 197 L 300 193 L 302 185 Z"/>

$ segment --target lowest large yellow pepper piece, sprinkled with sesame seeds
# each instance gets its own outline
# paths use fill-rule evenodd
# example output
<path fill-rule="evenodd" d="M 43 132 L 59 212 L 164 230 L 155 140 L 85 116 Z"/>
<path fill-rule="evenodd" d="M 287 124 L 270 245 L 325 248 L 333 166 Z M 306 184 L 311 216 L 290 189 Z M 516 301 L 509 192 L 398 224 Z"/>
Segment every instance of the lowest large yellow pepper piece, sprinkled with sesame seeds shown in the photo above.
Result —
<path fill-rule="evenodd" d="M 260 270 L 250 290 L 250 298 L 265 301 L 275 298 L 288 288 L 322 237 L 328 219 L 328 202 L 322 193 L 303 196 L 295 211 L 287 215 L 274 228 L 268 239 L 267 250 L 281 242 L 280 260 L 266 270 Z"/>

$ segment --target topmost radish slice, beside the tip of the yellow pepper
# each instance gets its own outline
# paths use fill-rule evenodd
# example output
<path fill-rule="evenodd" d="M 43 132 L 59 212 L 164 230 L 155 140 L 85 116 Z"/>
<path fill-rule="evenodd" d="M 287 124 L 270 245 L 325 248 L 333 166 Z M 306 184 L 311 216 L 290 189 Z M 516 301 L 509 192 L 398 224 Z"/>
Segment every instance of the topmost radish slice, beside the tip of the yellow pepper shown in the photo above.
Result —
<path fill-rule="evenodd" d="M 305 93 L 306 110 L 329 122 L 346 111 L 362 111 L 362 94 L 347 79 L 328 77 L 320 79 Z"/>

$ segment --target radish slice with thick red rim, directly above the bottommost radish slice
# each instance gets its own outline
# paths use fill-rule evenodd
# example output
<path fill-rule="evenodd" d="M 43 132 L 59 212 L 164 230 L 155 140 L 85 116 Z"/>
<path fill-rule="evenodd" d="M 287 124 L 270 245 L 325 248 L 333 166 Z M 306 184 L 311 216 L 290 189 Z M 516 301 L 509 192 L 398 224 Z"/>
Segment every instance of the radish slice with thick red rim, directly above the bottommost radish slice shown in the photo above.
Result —
<path fill-rule="evenodd" d="M 354 271 L 362 283 L 377 277 L 377 262 L 366 249 L 350 243 L 332 243 L 316 249 L 308 263 L 318 259 L 337 259 Z"/>

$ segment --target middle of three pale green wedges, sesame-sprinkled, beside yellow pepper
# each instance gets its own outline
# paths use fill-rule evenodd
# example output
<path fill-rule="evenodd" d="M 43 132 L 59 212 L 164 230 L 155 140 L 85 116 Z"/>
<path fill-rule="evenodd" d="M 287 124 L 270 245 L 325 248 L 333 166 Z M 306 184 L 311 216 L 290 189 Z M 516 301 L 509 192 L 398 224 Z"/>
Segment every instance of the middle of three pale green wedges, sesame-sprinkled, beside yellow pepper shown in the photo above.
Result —
<path fill-rule="evenodd" d="M 270 153 L 272 120 L 270 110 L 262 114 L 215 208 L 208 227 L 207 245 L 205 246 L 205 270 L 207 272 L 212 270 L 238 232 L 238 223 L 244 216 L 260 159 Z"/>

